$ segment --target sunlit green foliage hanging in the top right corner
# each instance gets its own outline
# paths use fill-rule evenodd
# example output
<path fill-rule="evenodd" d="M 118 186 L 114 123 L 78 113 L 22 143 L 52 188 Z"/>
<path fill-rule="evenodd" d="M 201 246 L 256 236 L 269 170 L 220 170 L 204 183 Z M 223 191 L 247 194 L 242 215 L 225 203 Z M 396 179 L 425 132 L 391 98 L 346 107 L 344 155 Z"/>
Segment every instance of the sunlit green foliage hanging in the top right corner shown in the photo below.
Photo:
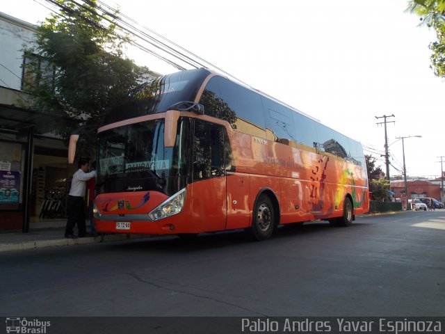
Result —
<path fill-rule="evenodd" d="M 430 67 L 437 77 L 445 77 L 445 0 L 412 0 L 407 10 L 420 16 L 421 25 L 435 30 L 437 40 L 430 43 Z"/>

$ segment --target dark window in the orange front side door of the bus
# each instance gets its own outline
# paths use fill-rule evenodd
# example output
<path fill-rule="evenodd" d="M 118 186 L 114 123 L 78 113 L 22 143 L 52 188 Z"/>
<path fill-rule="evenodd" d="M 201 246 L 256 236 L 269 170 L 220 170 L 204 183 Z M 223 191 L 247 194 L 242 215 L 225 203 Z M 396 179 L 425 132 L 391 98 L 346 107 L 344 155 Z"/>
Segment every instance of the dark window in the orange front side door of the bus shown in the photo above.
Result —
<path fill-rule="evenodd" d="M 195 120 L 193 136 L 193 180 L 225 175 L 225 128 Z"/>

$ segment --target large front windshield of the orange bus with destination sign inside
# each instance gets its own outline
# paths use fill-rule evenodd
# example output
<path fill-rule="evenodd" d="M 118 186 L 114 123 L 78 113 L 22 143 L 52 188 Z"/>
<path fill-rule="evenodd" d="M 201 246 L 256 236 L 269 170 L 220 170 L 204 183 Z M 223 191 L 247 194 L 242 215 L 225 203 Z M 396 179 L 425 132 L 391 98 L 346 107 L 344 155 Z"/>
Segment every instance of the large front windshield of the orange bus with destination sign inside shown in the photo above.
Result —
<path fill-rule="evenodd" d="M 99 134 L 97 194 L 154 190 L 171 194 L 185 186 L 187 124 L 179 120 L 173 148 L 163 145 L 163 118 Z"/>

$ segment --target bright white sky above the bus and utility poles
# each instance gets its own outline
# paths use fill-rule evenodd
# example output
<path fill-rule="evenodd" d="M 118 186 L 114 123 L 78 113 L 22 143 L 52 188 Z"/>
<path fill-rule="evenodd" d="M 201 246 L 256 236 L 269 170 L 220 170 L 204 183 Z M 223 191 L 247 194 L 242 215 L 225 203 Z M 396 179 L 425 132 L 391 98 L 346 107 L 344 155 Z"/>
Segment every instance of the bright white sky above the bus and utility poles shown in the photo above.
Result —
<path fill-rule="evenodd" d="M 407 0 L 102 0 L 244 83 L 364 146 L 390 175 L 439 177 L 445 81 L 430 68 L 435 32 L 406 13 Z M 44 0 L 2 1 L 0 11 L 37 24 Z M 177 72 L 138 49 L 128 55 L 161 74 Z M 394 122 L 392 122 L 394 121 Z M 444 170 L 445 170 L 445 157 Z M 394 167 L 393 167 L 394 166 Z"/>

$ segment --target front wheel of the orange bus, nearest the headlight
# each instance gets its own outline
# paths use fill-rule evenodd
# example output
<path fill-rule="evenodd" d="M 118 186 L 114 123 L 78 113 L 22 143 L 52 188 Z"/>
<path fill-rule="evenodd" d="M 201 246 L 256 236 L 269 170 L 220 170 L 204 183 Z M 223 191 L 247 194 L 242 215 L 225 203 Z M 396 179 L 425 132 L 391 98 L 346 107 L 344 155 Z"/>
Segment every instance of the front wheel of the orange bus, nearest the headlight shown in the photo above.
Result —
<path fill-rule="evenodd" d="M 248 236 L 254 240 L 269 239 L 275 230 L 275 209 L 268 196 L 262 194 L 255 202 L 252 227 L 247 229 Z"/>

